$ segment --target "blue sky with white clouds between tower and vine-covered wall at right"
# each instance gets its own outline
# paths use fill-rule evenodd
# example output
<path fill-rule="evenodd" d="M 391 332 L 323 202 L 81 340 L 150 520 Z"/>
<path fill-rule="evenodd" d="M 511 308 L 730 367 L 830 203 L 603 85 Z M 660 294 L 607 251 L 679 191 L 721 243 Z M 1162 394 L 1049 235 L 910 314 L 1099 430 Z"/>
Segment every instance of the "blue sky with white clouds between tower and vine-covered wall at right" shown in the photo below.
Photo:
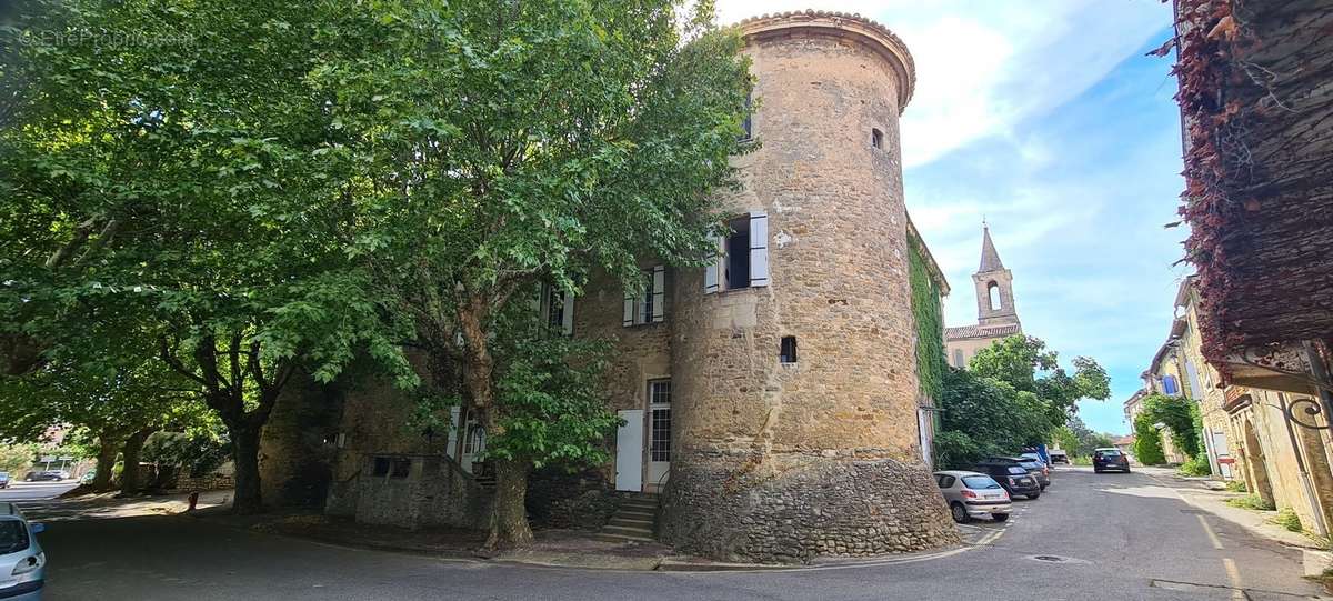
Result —
<path fill-rule="evenodd" d="M 1021 8 L 1018 8 L 1021 7 Z M 1112 397 L 1080 402 L 1093 429 L 1129 432 L 1122 402 L 1165 341 L 1189 268 L 1176 221 L 1180 113 L 1160 0 L 718 0 L 722 23 L 806 8 L 861 13 L 916 61 L 902 113 L 908 212 L 976 322 L 981 221 L 1013 272 L 1029 336 L 1065 365 L 1096 358 Z"/>

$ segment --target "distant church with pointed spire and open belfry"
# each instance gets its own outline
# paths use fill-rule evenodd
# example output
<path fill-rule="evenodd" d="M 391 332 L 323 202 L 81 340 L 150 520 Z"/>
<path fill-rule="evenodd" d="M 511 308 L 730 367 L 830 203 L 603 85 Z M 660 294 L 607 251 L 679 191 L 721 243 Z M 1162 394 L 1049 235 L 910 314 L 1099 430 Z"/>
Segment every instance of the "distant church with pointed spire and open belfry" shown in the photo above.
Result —
<path fill-rule="evenodd" d="M 1021 334 L 1018 309 L 1013 302 L 1013 272 L 1000 261 L 1000 253 L 990 240 L 990 228 L 981 227 L 981 265 L 972 275 L 977 297 L 977 322 L 945 328 L 945 353 L 949 365 L 962 369 L 968 361 L 996 340 Z"/>

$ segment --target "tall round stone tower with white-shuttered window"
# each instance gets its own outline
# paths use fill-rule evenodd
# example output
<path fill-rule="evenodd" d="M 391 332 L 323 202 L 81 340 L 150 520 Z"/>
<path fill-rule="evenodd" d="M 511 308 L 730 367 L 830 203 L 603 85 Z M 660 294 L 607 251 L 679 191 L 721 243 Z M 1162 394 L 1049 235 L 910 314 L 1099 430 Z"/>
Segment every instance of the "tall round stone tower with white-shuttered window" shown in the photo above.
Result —
<path fill-rule="evenodd" d="M 674 287 L 661 538 L 750 561 L 956 542 L 917 430 L 898 149 L 912 57 L 854 15 L 738 27 L 760 147 L 721 203 L 761 251 L 728 240 L 716 271 Z"/>

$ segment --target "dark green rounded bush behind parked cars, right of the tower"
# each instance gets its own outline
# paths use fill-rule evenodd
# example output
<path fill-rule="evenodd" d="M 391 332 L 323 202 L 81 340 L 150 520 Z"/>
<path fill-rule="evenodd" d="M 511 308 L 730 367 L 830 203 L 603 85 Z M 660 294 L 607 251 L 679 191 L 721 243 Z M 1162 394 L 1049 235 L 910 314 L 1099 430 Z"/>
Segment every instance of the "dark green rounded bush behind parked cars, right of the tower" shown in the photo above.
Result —
<path fill-rule="evenodd" d="M 1008 382 L 949 368 L 937 405 L 942 409 L 936 457 L 966 468 L 988 454 L 1016 453 L 1046 440 L 1050 424 L 1036 394 Z"/>

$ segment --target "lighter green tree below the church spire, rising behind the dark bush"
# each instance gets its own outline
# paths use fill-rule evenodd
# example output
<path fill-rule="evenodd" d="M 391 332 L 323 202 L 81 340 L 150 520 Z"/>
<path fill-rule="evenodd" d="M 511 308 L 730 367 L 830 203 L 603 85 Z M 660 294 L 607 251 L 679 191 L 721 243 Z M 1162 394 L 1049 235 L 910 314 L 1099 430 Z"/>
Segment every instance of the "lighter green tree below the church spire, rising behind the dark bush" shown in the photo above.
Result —
<path fill-rule="evenodd" d="M 968 370 L 1034 394 L 1045 409 L 1048 429 L 1054 429 L 1078 410 L 1081 398 L 1110 397 L 1110 380 L 1097 361 L 1074 357 L 1072 364 L 1073 374 L 1060 366 L 1057 353 L 1046 350 L 1046 342 L 1030 336 L 1010 336 L 977 350 Z"/>

